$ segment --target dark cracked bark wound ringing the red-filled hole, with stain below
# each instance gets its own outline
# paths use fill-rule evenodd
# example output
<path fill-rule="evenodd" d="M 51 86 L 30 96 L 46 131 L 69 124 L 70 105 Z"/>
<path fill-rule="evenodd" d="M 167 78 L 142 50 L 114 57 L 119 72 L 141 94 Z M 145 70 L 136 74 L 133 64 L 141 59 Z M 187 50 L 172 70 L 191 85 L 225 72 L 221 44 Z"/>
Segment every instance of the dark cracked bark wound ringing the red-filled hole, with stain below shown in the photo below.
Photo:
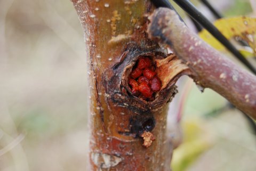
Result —
<path fill-rule="evenodd" d="M 150 133 L 155 127 L 153 113 L 160 110 L 164 104 L 170 102 L 177 93 L 175 83 L 183 74 L 188 74 L 188 67 L 174 54 L 166 54 L 160 47 L 139 46 L 136 43 L 126 45 L 119 62 L 103 74 L 103 85 L 109 94 L 107 101 L 119 107 L 127 108 L 132 114 L 129 121 L 129 131 L 119 131 L 119 134 L 141 137 L 143 146 L 147 148 L 155 140 Z M 153 101 L 147 101 L 133 95 L 128 84 L 134 65 L 141 56 L 147 56 L 156 65 L 156 72 L 161 79 L 162 87 L 155 93 Z"/>

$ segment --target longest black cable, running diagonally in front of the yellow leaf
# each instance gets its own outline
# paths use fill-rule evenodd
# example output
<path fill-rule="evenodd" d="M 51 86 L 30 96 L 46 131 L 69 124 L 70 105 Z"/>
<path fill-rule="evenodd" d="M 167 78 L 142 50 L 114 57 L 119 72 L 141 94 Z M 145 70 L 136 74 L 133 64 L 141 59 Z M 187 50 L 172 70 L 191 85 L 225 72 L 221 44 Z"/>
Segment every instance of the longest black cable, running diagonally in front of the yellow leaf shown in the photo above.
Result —
<path fill-rule="evenodd" d="M 219 40 L 236 58 L 247 66 L 255 75 L 256 69 L 252 64 L 244 58 L 244 56 L 233 46 L 229 40 L 221 34 L 221 32 L 201 13 L 196 7 L 191 4 L 188 0 L 173 0 L 177 3 L 184 11 L 186 11 L 192 18 L 200 23 L 207 31 L 209 31 L 215 38 Z"/>

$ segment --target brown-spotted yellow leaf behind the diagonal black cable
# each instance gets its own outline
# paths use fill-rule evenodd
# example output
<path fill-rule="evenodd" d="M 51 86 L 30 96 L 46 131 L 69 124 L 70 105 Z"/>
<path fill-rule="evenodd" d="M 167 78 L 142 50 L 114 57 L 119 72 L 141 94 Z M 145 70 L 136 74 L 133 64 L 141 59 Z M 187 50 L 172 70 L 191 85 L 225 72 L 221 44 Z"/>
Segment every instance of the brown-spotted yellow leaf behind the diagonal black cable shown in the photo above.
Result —
<path fill-rule="evenodd" d="M 249 44 L 253 55 L 256 55 L 256 18 L 250 17 L 234 17 L 234 18 L 224 18 L 219 19 L 214 22 L 214 26 L 216 26 L 220 32 L 227 39 L 238 39 L 244 40 Z M 205 40 L 212 47 L 217 50 L 223 51 L 225 47 L 218 42 L 207 30 L 202 30 L 199 33 L 199 36 Z M 244 49 L 239 49 L 242 53 L 244 53 Z M 251 53 L 244 53 L 245 55 L 253 56 Z M 247 56 L 247 57 L 249 57 Z"/>

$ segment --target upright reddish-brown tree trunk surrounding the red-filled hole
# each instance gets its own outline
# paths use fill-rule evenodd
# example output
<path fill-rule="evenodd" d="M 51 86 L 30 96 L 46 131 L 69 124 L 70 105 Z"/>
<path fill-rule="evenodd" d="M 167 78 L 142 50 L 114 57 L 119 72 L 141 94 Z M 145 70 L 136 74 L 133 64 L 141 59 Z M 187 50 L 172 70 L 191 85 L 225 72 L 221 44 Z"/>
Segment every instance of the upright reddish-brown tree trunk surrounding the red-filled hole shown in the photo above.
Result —
<path fill-rule="evenodd" d="M 148 0 L 72 2 L 84 28 L 90 66 L 89 170 L 170 170 L 167 103 L 177 93 L 175 80 L 189 70 L 148 39 L 147 16 L 154 6 Z M 142 56 L 157 67 L 162 81 L 151 100 L 135 96 L 128 83 Z"/>

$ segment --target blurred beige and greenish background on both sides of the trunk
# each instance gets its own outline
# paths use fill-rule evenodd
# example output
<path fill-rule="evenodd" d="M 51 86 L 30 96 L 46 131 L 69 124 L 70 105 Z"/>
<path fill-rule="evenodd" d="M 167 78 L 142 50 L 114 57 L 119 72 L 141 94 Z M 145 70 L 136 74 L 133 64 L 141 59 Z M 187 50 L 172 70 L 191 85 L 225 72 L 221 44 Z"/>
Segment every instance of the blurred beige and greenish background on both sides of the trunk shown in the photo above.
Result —
<path fill-rule="evenodd" d="M 249 0 L 210 2 L 225 17 L 253 15 Z M 84 46 L 70 1 L 0 1 L 1 171 L 85 170 Z M 175 104 L 182 109 L 184 142 L 174 152 L 173 170 L 255 171 L 256 137 L 241 112 L 211 90 L 202 94 L 191 80 L 183 82 Z"/>

